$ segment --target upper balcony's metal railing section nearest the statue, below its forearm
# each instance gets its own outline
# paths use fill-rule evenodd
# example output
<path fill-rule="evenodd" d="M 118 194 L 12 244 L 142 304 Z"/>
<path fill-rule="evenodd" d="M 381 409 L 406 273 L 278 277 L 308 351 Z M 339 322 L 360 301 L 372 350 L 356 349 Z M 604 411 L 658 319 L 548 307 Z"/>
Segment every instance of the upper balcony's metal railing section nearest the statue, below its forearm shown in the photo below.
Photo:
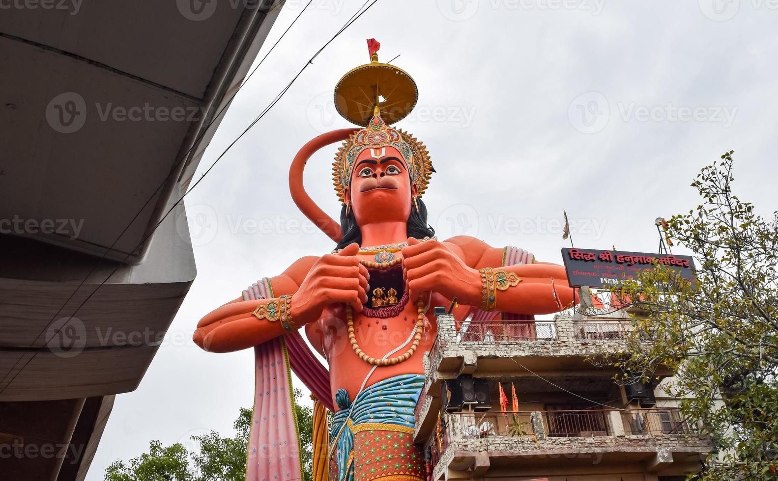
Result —
<path fill-rule="evenodd" d="M 517 343 L 556 340 L 554 322 L 470 321 L 460 327 L 457 342 Z"/>

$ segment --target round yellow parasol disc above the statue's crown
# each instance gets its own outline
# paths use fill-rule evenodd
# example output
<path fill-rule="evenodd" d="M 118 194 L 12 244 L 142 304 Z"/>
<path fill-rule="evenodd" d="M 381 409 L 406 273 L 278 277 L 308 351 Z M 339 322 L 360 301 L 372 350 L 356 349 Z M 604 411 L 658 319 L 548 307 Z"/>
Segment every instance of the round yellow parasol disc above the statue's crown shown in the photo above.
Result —
<path fill-rule="evenodd" d="M 364 127 L 376 106 L 387 124 L 411 113 L 419 89 L 410 75 L 391 64 L 382 64 L 373 54 L 370 64 L 360 65 L 343 75 L 335 85 L 335 109 L 345 120 Z"/>

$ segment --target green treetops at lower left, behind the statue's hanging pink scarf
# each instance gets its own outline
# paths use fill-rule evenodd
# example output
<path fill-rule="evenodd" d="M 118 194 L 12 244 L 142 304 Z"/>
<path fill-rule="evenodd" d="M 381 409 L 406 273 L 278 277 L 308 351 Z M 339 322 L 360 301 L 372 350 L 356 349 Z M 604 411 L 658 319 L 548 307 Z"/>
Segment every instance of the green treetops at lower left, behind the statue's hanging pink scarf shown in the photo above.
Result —
<path fill-rule="evenodd" d="M 300 427 L 300 456 L 303 458 L 303 479 L 311 481 L 313 471 L 313 417 L 310 407 L 297 402 L 302 392 L 295 389 L 294 408 Z M 128 463 L 117 460 L 108 466 L 105 481 L 244 481 L 248 436 L 253 410 L 241 408 L 233 423 L 235 435 L 222 437 L 216 431 L 192 436 L 199 444 L 190 451 L 181 443 L 163 448 L 159 441 L 149 443 L 149 452 Z"/>

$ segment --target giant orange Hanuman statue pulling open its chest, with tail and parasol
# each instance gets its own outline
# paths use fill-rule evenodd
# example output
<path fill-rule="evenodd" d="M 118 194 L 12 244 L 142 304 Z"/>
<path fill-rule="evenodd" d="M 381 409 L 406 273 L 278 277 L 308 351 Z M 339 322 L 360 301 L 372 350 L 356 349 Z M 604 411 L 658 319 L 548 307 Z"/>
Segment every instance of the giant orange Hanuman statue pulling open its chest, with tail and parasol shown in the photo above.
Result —
<path fill-rule="evenodd" d="M 338 242 L 335 250 L 259 281 L 205 315 L 195 332 L 198 346 L 211 352 L 254 347 L 248 481 L 301 477 L 290 367 L 334 412 L 328 433 L 323 409 L 314 420 L 319 448 L 326 447 L 314 460 L 314 479 L 426 479 L 412 433 L 422 354 L 436 335 L 429 307 L 451 305 L 456 297 L 457 319 L 532 319 L 574 301 L 559 265 L 471 237 L 434 237 L 421 200 L 434 172 L 429 154 L 391 127 L 415 104 L 415 82 L 379 63 L 377 43 L 368 44 L 372 61 L 346 74 L 335 94 L 338 112 L 366 127 L 315 138 L 289 173 L 296 204 Z M 334 164 L 338 224 L 307 196 L 302 174 L 310 155 L 342 140 Z"/>

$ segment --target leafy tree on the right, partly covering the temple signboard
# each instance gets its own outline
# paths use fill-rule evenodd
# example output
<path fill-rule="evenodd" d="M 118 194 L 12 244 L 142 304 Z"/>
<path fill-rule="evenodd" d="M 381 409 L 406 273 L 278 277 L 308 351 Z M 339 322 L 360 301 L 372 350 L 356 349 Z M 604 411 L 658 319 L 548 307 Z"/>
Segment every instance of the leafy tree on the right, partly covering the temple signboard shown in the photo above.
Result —
<path fill-rule="evenodd" d="M 682 412 L 717 442 L 699 479 L 773 479 L 778 453 L 778 213 L 762 218 L 734 196 L 732 154 L 692 187 L 702 202 L 669 221 L 691 250 L 696 281 L 655 266 L 614 290 L 636 308 L 628 348 L 602 361 L 619 382 L 677 370 L 668 386 Z M 723 402 L 722 402 L 723 401 Z"/>

